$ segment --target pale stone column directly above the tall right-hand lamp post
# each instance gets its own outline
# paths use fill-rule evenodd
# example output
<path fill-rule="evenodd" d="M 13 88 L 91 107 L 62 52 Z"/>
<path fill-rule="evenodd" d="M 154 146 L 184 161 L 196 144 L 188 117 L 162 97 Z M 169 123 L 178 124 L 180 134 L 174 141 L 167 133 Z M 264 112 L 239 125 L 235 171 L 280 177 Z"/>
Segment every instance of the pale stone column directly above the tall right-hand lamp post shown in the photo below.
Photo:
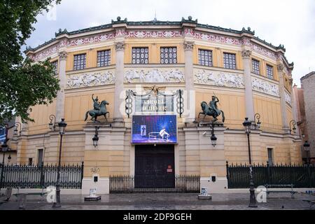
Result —
<path fill-rule="evenodd" d="M 241 52 L 244 66 L 245 107 L 248 120 L 254 120 L 253 89 L 251 85 L 251 50 Z"/>

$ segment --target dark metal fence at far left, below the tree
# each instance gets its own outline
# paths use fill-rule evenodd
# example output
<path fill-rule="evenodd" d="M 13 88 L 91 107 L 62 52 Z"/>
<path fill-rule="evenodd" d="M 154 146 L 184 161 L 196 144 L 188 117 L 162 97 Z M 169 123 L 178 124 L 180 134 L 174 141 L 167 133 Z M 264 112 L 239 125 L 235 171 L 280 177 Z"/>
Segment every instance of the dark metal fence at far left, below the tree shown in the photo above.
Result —
<path fill-rule="evenodd" d="M 82 188 L 82 165 L 60 167 L 60 188 Z M 3 169 L 3 170 L 2 170 Z M 56 186 L 57 165 L 2 165 L 0 166 L 0 188 L 46 188 Z"/>

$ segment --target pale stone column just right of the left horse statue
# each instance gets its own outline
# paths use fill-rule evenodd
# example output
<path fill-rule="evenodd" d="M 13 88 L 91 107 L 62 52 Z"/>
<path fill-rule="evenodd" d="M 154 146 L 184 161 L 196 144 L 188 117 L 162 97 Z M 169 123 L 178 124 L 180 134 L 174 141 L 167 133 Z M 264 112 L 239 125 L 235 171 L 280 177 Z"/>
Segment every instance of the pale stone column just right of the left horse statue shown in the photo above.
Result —
<path fill-rule="evenodd" d="M 114 118 L 113 121 L 119 126 L 123 125 L 123 109 L 120 109 L 123 105 L 124 99 L 120 97 L 120 94 L 124 92 L 124 55 L 125 55 L 125 42 L 120 41 L 115 43 L 116 49 L 116 69 L 115 69 L 115 102 L 114 104 Z"/>

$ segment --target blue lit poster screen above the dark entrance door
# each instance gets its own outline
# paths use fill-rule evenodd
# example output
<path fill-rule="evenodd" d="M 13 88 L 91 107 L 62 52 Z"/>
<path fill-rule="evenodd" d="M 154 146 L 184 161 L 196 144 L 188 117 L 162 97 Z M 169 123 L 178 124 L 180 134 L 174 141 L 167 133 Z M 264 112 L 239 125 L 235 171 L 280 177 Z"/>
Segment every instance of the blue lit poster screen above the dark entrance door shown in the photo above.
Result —
<path fill-rule="evenodd" d="M 176 115 L 132 116 L 132 144 L 176 143 Z"/>

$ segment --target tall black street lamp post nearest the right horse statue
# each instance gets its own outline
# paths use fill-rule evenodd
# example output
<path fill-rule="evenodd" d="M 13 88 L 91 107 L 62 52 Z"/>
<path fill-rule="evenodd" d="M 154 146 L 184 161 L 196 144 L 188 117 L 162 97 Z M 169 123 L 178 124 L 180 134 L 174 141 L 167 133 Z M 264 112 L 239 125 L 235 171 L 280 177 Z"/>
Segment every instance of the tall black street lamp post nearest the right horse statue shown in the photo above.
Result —
<path fill-rule="evenodd" d="M 248 118 L 245 118 L 244 123 L 245 131 L 247 134 L 247 142 L 248 142 L 248 157 L 249 157 L 249 205 L 248 207 L 257 208 L 256 200 L 255 200 L 255 188 L 253 183 L 253 167 L 251 166 L 251 144 L 249 141 L 249 134 L 251 133 L 251 121 Z"/>

